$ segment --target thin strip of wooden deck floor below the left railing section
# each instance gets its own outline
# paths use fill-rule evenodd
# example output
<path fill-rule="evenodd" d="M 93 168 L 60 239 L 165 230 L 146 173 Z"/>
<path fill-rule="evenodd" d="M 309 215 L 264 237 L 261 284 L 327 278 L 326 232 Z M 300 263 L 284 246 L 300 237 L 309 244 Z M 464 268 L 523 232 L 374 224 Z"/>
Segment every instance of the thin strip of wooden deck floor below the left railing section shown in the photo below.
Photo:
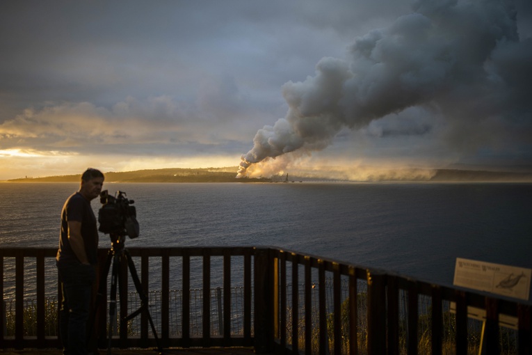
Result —
<path fill-rule="evenodd" d="M 0 349 L 2 355 L 61 355 L 61 349 Z M 99 350 L 98 355 L 107 354 L 106 349 Z M 163 349 L 162 353 L 159 353 L 157 349 L 112 349 L 113 355 L 252 355 L 252 347 L 223 347 L 223 348 L 187 348 L 187 349 Z"/>

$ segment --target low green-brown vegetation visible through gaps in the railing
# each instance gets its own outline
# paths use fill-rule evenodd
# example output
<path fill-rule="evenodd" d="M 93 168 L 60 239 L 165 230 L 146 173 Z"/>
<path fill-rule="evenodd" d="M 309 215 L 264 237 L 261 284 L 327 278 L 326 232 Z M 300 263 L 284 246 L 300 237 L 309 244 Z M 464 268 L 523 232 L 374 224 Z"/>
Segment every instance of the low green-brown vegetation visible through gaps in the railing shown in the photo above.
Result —
<path fill-rule="evenodd" d="M 177 292 L 177 291 L 172 291 Z M 196 292 L 198 294 L 202 294 L 201 290 L 191 290 L 191 292 Z M 154 292 L 152 292 L 154 293 Z M 154 296 L 152 294 L 152 296 Z M 232 294 L 232 298 L 234 298 L 235 303 L 238 303 L 236 299 L 239 299 L 240 297 L 243 297 L 242 290 L 239 290 L 239 292 L 235 291 L 234 294 Z M 367 294 L 365 292 L 360 292 L 357 294 L 357 345 L 358 345 L 358 352 L 360 354 L 366 354 L 367 347 L 366 347 L 366 340 L 367 340 L 367 324 L 366 324 L 366 302 L 367 302 Z M 173 297 L 176 299 L 175 297 Z M 194 297 L 195 299 L 196 297 Z M 179 300 L 182 300 L 181 298 L 177 298 Z M 14 303 L 11 301 L 8 301 L 6 304 L 6 336 L 14 336 L 15 335 L 15 311 L 13 309 Z M 136 308 L 135 305 L 134 308 Z M 178 308 L 175 308 L 178 309 Z M 349 342 L 349 299 L 345 299 L 344 302 L 341 304 L 341 349 L 342 354 L 348 354 L 348 350 L 350 347 Z M 212 310 L 213 313 L 216 313 L 216 310 Z M 300 310 L 301 312 L 301 310 Z M 292 343 L 292 334 L 291 334 L 291 316 L 292 309 L 287 309 L 287 327 L 285 329 L 282 329 L 281 331 L 285 332 L 285 336 L 287 338 L 287 343 Z M 36 322 L 36 305 L 33 301 L 27 301 L 26 305 L 24 307 L 24 336 L 36 336 L 37 335 L 37 322 Z M 58 334 L 57 332 L 57 324 L 58 324 L 58 310 L 57 310 L 57 300 L 54 298 L 49 298 L 45 300 L 45 336 L 56 336 Z M 419 354 L 430 354 L 431 353 L 431 324 L 432 324 L 432 318 L 431 318 L 430 308 L 428 308 L 428 312 L 421 312 L 419 314 L 418 318 L 418 353 Z M 218 317 L 220 314 L 218 314 Z M 155 315 L 156 317 L 156 315 Z M 320 346 L 320 329 L 319 329 L 319 315 L 316 310 L 312 313 L 312 354 L 317 354 L 319 352 L 319 346 Z M 453 313 L 450 311 L 445 311 L 443 314 L 444 318 L 444 333 L 443 336 L 443 344 L 442 344 L 442 352 L 443 354 L 454 354 L 455 353 L 455 339 L 456 339 L 456 317 Z M 213 314 L 212 319 L 218 319 L 216 317 L 216 314 Z M 399 352 L 400 354 L 406 354 L 407 352 L 407 339 L 408 339 L 408 329 L 406 326 L 406 319 L 403 319 L 404 322 L 401 322 L 399 324 Z M 469 322 L 468 326 L 468 354 L 477 354 L 478 348 L 481 341 L 481 328 L 478 326 L 478 321 L 471 320 Z M 201 329 L 201 326 L 196 324 L 197 329 Z M 221 331 L 220 329 L 216 328 L 216 324 L 212 324 L 213 331 L 216 333 L 216 329 L 218 330 L 218 335 L 220 335 Z M 115 324 L 113 326 L 115 334 L 118 334 L 120 329 L 117 329 L 120 327 L 120 323 Z M 127 324 L 127 334 L 128 336 L 135 336 L 138 332 L 138 326 L 134 324 L 134 321 L 131 320 Z M 234 332 L 239 333 L 239 329 L 234 329 Z M 213 334 L 216 335 L 216 334 Z M 327 335 L 328 335 L 328 345 L 329 349 L 334 349 L 334 313 L 329 313 L 327 317 Z M 303 349 L 305 347 L 305 319 L 303 317 L 299 317 L 299 324 L 298 324 L 298 347 L 300 349 Z M 501 327 L 500 329 L 500 346 L 501 346 L 501 354 L 503 355 L 513 355 L 517 354 L 517 342 L 516 342 L 516 336 L 515 331 L 511 329 L 506 329 Z"/>

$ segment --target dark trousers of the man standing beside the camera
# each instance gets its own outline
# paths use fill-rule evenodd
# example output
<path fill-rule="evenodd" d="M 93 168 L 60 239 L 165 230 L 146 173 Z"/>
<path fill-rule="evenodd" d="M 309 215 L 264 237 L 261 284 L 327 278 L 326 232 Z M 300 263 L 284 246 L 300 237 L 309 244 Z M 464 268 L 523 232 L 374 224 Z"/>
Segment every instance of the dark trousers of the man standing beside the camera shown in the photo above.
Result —
<path fill-rule="evenodd" d="M 59 331 L 63 341 L 63 354 L 87 354 L 86 324 L 90 312 L 92 283 L 96 270 L 90 265 L 58 262 L 59 281 L 63 293 Z"/>

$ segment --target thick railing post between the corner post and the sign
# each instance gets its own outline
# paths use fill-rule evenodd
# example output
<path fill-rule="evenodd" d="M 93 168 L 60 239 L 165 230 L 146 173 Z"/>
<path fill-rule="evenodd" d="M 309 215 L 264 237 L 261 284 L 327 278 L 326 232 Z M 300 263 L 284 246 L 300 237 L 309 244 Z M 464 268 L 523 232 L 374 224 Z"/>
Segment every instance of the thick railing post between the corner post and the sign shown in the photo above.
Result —
<path fill-rule="evenodd" d="M 386 278 L 366 270 L 368 282 L 368 354 L 386 354 Z"/>

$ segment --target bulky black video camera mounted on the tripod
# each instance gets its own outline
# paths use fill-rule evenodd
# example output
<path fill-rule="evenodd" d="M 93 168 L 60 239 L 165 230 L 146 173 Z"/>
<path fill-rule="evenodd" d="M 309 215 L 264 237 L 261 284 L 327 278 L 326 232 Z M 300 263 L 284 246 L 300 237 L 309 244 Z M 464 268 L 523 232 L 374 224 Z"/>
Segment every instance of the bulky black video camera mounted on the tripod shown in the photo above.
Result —
<path fill-rule="evenodd" d="M 111 237 L 124 235 L 129 235 L 131 239 L 138 237 L 136 208 L 131 206 L 134 200 L 128 200 L 124 191 L 116 191 L 115 196 L 111 196 L 107 190 L 104 190 L 99 194 L 99 202 L 102 203 L 98 212 L 100 232 Z"/>

